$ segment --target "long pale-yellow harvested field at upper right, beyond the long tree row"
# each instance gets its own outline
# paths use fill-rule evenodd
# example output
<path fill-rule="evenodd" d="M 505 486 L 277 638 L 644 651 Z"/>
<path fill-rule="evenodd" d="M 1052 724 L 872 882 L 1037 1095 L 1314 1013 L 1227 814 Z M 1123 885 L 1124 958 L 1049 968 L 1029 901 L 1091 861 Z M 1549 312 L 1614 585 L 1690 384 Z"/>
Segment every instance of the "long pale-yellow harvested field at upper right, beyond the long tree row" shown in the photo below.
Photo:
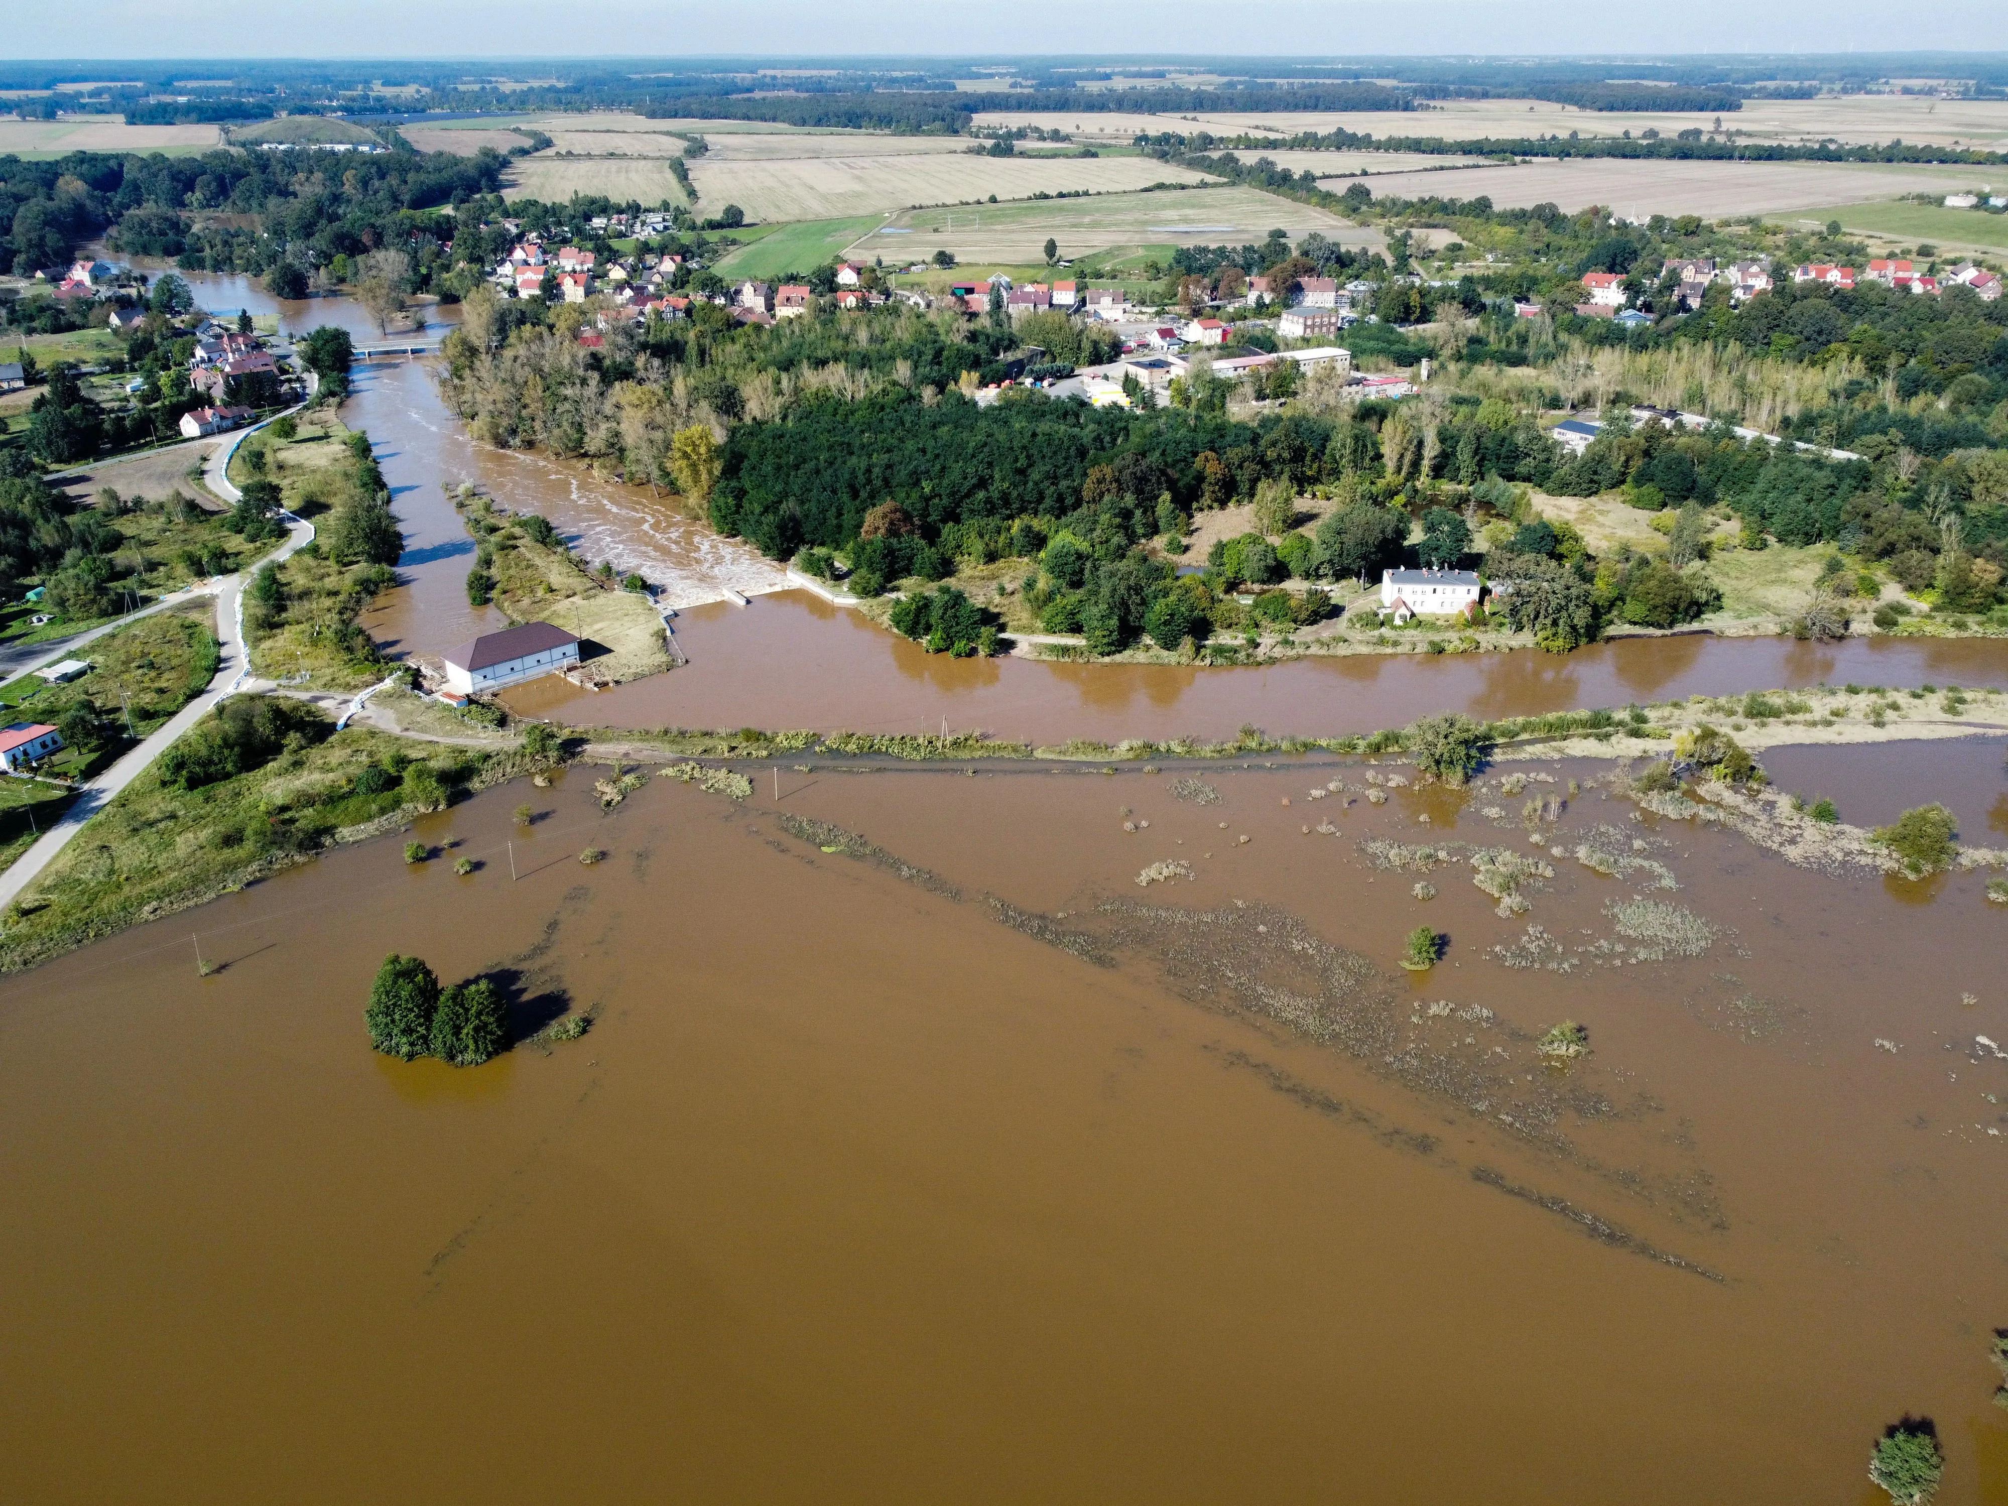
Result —
<path fill-rule="evenodd" d="M 976 116 L 978 124 L 1038 124 L 1102 141 L 1128 141 L 1151 131 L 1211 131 L 1217 137 L 1241 133 L 1297 135 L 1299 131 L 1359 131 L 1373 137 L 1544 137 L 1580 131 L 1584 137 L 1616 137 L 1630 131 L 1675 135 L 1691 127 L 1709 129 L 1713 114 L 1675 110 L 1578 110 L 1568 104 L 1530 98 L 1440 100 L 1428 110 L 1267 110 L 1239 114 L 1201 110 L 1193 114 L 1048 114 L 1000 110 Z M 1741 110 L 1721 116 L 1723 129 L 1747 141 L 1803 143 L 1831 137 L 1845 143 L 1912 141 L 1934 147 L 2008 149 L 2008 100 L 1956 100 L 1922 94 L 1835 94 L 1811 100 L 1745 100 Z"/>

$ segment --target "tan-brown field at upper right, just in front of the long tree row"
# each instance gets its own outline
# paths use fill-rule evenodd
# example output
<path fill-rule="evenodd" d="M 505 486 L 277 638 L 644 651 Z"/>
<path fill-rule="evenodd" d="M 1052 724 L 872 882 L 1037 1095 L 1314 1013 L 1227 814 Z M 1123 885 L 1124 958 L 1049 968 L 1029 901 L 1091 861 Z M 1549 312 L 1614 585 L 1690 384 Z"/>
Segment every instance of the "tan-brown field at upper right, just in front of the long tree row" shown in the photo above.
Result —
<path fill-rule="evenodd" d="M 1394 173 L 1371 181 L 1375 197 L 1488 197 L 1494 209 L 1552 203 L 1574 213 L 1602 205 L 1624 217 L 1701 215 L 1739 219 L 1837 203 L 1950 191 L 1970 167 L 1841 167 L 1829 163 L 1637 163 L 1614 157 L 1532 161 L 1442 173 Z M 1351 179 L 1321 179 L 1343 191 Z"/>

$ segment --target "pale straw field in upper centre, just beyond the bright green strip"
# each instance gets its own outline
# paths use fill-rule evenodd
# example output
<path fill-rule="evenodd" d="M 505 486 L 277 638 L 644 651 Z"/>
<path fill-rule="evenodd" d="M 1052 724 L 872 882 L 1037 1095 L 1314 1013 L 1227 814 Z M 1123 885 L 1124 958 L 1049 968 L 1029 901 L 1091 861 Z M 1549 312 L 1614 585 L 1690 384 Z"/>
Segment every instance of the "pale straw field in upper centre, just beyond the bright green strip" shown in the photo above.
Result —
<path fill-rule="evenodd" d="M 1034 193 L 1122 193 L 1151 183 L 1205 183 L 1199 173 L 1145 157 L 819 157 L 691 163 L 705 209 L 739 205 L 757 221 L 841 219 L 912 205 L 1030 199 Z"/>

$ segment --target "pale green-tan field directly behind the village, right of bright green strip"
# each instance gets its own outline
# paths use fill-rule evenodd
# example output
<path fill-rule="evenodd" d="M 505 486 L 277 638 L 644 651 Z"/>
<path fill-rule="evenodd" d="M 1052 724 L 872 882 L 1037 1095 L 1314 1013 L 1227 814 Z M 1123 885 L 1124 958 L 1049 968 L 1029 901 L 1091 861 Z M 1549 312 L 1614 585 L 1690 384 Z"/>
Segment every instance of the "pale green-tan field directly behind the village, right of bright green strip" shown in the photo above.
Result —
<path fill-rule="evenodd" d="M 1377 231 L 1347 225 L 1321 209 L 1259 189 L 1217 187 L 916 209 L 861 237 L 853 255 L 906 265 L 926 261 L 942 247 L 954 251 L 958 261 L 1018 265 L 1040 261 L 1050 235 L 1066 259 L 1116 247 L 1131 247 L 1141 259 L 1145 247 L 1241 245 L 1261 241 L 1271 229 L 1283 229 L 1291 239 L 1321 231 L 1341 245 L 1379 245 Z"/>

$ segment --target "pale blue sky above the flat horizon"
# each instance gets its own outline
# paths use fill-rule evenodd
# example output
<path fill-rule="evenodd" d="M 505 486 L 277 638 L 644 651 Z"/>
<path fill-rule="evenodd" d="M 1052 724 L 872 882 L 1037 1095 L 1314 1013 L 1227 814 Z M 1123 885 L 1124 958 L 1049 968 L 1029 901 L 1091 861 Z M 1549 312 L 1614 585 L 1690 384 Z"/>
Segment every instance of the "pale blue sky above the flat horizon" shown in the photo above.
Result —
<path fill-rule="evenodd" d="M 8 6 L 10 58 L 554 58 L 974 52 L 1881 52 L 2008 48 L 2008 6 L 1817 8 L 1685 0 L 1582 8 L 1532 0 L 1100 0 L 1092 6 L 970 6 L 886 0 L 257 0 L 175 6 L 92 0 Z"/>

